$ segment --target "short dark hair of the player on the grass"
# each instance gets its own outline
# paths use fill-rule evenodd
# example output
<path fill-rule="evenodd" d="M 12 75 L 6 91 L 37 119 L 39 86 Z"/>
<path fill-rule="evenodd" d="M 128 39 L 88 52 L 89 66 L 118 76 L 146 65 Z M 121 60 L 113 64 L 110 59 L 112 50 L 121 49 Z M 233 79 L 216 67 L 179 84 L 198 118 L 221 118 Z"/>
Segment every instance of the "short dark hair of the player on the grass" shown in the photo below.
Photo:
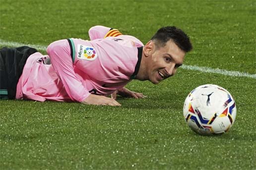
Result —
<path fill-rule="evenodd" d="M 165 46 L 166 42 L 173 40 L 173 42 L 183 51 L 189 52 L 192 50 L 189 36 L 175 26 L 160 28 L 151 40 L 155 41 L 157 46 Z"/>

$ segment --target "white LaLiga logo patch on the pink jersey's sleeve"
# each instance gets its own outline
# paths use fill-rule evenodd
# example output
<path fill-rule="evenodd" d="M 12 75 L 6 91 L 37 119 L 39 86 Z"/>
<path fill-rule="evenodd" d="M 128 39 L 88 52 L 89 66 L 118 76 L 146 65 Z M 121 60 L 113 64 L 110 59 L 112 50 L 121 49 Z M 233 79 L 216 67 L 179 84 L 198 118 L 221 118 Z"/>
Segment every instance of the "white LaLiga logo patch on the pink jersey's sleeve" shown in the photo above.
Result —
<path fill-rule="evenodd" d="M 95 49 L 92 46 L 78 44 L 77 48 L 77 51 L 79 51 L 77 57 L 79 59 L 92 61 L 98 57 Z"/>

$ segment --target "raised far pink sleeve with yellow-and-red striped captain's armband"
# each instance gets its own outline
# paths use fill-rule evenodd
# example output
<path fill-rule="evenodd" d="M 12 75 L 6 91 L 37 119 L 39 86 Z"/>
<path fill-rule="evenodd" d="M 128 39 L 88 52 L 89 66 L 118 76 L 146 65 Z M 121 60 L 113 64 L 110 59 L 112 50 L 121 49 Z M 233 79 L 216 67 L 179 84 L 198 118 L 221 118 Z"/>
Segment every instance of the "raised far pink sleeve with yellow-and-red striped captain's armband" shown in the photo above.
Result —
<path fill-rule="evenodd" d="M 117 37 L 122 35 L 117 29 L 104 27 L 104 26 L 94 26 L 90 28 L 89 30 L 89 37 L 90 40 L 96 40 L 96 39 L 104 39 L 106 37 Z"/>

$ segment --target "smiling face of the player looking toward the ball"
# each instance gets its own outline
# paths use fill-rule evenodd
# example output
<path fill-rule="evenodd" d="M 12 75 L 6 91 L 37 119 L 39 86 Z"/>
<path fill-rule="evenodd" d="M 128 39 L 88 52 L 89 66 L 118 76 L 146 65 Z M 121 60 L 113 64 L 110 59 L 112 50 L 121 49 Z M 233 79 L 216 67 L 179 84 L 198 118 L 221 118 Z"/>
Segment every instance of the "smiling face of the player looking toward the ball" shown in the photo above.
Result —
<path fill-rule="evenodd" d="M 154 43 L 154 42 L 152 42 Z M 176 70 L 183 64 L 185 52 L 173 41 L 168 41 L 164 47 L 156 47 L 149 53 L 148 79 L 153 84 L 175 75 Z M 151 55 L 151 56 L 150 56 Z"/>

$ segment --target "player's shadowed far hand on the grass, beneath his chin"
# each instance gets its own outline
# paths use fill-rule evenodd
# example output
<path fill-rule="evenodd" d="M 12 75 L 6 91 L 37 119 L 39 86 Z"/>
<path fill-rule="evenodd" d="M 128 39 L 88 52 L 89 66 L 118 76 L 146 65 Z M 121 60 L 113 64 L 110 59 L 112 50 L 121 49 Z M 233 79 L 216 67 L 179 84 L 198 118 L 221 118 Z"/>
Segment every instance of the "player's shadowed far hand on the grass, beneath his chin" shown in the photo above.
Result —
<path fill-rule="evenodd" d="M 121 95 L 122 97 L 132 97 L 132 98 L 136 98 L 136 99 L 147 97 L 147 96 L 143 95 L 142 93 L 137 93 L 137 92 L 134 92 L 134 91 L 130 91 L 125 87 L 121 88 L 121 89 L 118 89 L 115 92 L 113 92 L 111 94 L 111 98 L 117 99 L 117 94 Z"/>

